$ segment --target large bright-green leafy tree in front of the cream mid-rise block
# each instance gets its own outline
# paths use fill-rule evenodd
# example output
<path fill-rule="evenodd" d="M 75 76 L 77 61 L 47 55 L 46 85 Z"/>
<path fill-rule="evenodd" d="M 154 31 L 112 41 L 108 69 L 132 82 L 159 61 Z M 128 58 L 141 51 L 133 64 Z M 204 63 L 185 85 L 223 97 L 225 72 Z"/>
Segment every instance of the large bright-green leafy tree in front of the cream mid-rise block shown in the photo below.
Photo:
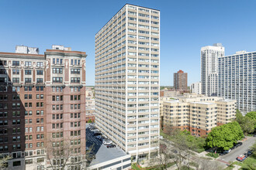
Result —
<path fill-rule="evenodd" d="M 206 145 L 210 148 L 218 147 L 228 150 L 242 138 L 244 134 L 240 125 L 237 121 L 233 121 L 213 128 L 206 138 Z"/>

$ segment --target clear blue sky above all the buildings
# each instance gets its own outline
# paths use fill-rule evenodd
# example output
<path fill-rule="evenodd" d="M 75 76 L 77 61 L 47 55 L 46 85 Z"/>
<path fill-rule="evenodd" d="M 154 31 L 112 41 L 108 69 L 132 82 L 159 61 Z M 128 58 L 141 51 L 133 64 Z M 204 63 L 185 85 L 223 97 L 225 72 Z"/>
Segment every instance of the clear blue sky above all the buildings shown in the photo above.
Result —
<path fill-rule="evenodd" d="M 52 44 L 85 51 L 87 85 L 94 85 L 95 33 L 126 3 L 161 10 L 161 86 L 184 70 L 200 80 L 200 48 L 223 43 L 226 55 L 256 51 L 254 0 L 0 0 L 0 51 Z"/>

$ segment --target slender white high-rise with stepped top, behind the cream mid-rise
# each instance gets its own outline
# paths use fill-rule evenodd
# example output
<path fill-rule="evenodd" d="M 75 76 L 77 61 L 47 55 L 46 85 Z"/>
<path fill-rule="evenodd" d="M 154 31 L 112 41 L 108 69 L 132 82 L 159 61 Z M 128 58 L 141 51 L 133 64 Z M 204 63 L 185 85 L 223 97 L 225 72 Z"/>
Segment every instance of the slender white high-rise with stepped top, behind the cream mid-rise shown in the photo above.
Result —
<path fill-rule="evenodd" d="M 218 57 L 224 56 L 225 49 L 220 43 L 201 48 L 202 94 L 217 96 Z"/>

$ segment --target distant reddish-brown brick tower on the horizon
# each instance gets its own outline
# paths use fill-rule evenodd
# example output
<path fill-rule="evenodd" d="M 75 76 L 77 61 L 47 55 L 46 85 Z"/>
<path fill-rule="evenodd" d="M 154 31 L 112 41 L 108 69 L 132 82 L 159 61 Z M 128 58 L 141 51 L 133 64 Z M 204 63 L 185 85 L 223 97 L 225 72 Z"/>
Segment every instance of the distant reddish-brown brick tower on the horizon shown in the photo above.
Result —
<path fill-rule="evenodd" d="M 188 90 L 188 73 L 178 70 L 173 76 L 175 90 Z"/>

